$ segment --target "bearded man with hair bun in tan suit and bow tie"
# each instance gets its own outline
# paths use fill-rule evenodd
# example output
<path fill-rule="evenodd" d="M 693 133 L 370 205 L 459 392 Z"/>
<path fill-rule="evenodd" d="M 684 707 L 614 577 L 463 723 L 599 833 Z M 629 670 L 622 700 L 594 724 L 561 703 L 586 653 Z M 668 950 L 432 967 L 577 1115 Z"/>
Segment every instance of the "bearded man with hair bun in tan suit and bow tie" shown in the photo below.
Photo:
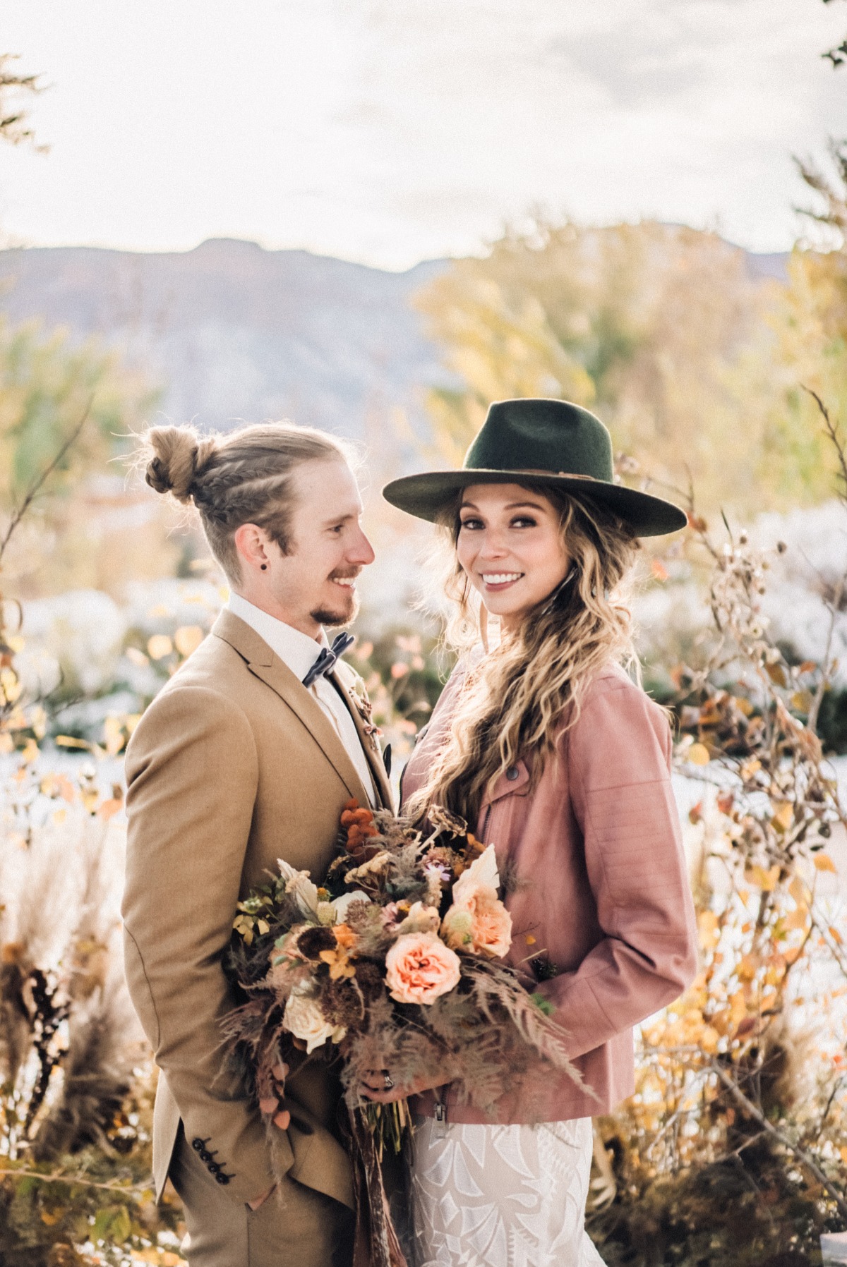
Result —
<path fill-rule="evenodd" d="M 126 963 L 160 1068 L 156 1192 L 170 1175 L 191 1267 L 347 1267 L 337 1073 L 294 1069 L 290 1124 L 269 1139 L 221 1019 L 240 1001 L 223 967 L 237 902 L 278 858 L 322 875 L 351 797 L 391 805 L 355 675 L 326 651 L 328 672 L 313 670 L 325 627 L 355 616 L 374 552 L 345 452 L 322 432 L 270 423 L 200 440 L 165 427 L 146 441 L 147 483 L 197 506 L 231 584 L 127 750 Z"/>

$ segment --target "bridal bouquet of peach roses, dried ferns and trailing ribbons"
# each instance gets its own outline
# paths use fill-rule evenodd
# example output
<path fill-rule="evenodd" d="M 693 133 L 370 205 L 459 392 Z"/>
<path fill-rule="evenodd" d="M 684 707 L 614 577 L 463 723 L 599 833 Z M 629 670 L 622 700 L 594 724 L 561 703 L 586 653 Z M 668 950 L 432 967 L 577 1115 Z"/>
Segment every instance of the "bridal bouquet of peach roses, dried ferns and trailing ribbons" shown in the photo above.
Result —
<path fill-rule="evenodd" d="M 449 1082 L 492 1115 L 539 1058 L 578 1077 L 552 1009 L 503 960 L 511 916 L 498 887 L 493 845 L 455 815 L 432 807 L 420 830 L 351 801 L 322 883 L 280 860 L 238 905 L 231 969 L 249 1001 L 226 1034 L 269 1130 L 289 1125 L 294 1059 L 340 1062 L 372 1232 L 384 1213 L 374 1158 L 387 1140 L 399 1149 L 408 1112 L 363 1101 L 366 1073 L 388 1069 L 398 1087 Z M 388 1261 L 399 1259 L 385 1251 Z"/>

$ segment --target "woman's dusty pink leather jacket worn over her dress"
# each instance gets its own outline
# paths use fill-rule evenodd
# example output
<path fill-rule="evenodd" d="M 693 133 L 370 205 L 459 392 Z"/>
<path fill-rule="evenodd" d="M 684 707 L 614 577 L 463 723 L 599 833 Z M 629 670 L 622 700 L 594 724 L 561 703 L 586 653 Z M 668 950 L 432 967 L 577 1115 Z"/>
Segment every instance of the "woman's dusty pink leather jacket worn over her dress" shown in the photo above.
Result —
<path fill-rule="evenodd" d="M 403 798 L 424 782 L 444 742 L 463 674 L 454 673 L 403 772 Z M 498 1105 L 501 1123 L 563 1121 L 609 1112 L 634 1090 L 633 1025 L 694 979 L 696 925 L 671 789 L 671 731 L 662 710 L 617 668 L 588 688 L 534 792 L 517 761 L 483 803 L 475 835 L 493 843 L 517 884 L 510 962 L 544 950 L 550 979 L 535 988 L 555 1007 L 586 1088 L 539 1071 Z M 535 939 L 534 941 L 527 939 Z M 526 972 L 526 964 L 524 964 Z M 593 1095 L 592 1095 L 593 1092 Z M 436 1100 L 455 1123 L 484 1123 L 453 1088 Z"/>

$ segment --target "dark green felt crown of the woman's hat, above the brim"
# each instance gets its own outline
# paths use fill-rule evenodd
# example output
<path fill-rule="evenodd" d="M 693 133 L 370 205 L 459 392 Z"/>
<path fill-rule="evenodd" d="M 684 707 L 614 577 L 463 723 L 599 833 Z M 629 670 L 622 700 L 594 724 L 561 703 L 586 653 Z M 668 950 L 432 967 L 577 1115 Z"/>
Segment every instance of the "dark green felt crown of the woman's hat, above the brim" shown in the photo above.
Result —
<path fill-rule="evenodd" d="M 465 470 L 546 471 L 614 479 L 611 436 L 569 400 L 496 400 L 468 449 Z"/>

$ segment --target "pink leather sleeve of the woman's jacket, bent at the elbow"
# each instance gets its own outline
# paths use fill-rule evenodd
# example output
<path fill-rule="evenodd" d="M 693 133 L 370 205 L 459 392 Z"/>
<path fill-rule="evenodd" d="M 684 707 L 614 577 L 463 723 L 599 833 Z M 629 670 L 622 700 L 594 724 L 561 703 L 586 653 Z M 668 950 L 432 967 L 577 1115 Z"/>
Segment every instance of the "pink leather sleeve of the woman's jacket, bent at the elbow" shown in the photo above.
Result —
<path fill-rule="evenodd" d="M 605 936 L 538 990 L 577 1057 L 677 998 L 696 973 L 697 941 L 662 711 L 631 683 L 595 692 L 564 751 Z"/>

